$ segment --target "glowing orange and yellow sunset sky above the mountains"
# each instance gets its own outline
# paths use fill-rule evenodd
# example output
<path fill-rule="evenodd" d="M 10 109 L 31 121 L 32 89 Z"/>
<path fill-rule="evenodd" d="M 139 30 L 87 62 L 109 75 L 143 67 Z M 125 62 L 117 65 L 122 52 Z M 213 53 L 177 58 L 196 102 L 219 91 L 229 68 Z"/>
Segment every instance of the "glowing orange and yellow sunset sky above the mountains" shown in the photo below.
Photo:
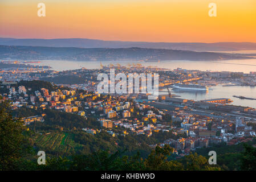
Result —
<path fill-rule="evenodd" d="M 38 17 L 38 3 L 46 17 Z M 217 4 L 217 17 L 208 15 Z M 255 0 L 1 0 L 2 38 L 256 42 Z"/>

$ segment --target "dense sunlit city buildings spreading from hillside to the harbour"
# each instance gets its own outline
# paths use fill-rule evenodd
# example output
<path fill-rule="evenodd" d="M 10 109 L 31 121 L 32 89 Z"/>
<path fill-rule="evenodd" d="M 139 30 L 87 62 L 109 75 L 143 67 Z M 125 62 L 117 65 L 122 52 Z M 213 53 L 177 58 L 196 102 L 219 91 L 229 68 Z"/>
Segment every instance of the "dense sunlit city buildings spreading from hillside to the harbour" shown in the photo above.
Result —
<path fill-rule="evenodd" d="M 15 64 L 19 63 L 16 61 Z M 117 73 L 159 73 L 159 87 L 162 90 L 159 98 L 154 101 L 147 100 L 147 94 L 142 93 L 99 94 L 96 89 L 96 85 L 99 84 L 97 75 L 109 73 L 111 68 L 115 68 Z M 71 78 L 68 80 L 69 83 L 58 84 L 64 81 L 65 77 Z M 152 148 L 169 144 L 174 148 L 173 154 L 177 156 L 188 155 L 196 148 L 222 142 L 234 145 L 253 140 L 256 110 L 252 107 L 231 105 L 231 98 L 201 101 L 180 98 L 171 93 L 168 87 L 175 84 L 197 84 L 207 87 L 219 84 L 254 86 L 255 77 L 255 72 L 204 72 L 182 68 L 170 71 L 157 67 L 142 67 L 141 64 L 101 65 L 101 69 L 82 68 L 63 72 L 43 68 L 31 71 L 27 68 L 7 68 L 2 69 L 0 75 L 2 101 L 10 100 L 12 110 L 40 109 L 37 115 L 19 116 L 28 126 L 28 130 L 32 122 L 44 122 L 44 109 L 58 110 L 80 115 L 85 120 L 87 117 L 96 118 L 100 127 L 76 128 L 91 135 L 105 131 L 112 137 L 134 134 L 151 137 L 152 133 L 165 132 L 182 136 L 148 144 Z M 77 78 L 84 82 L 78 83 L 80 80 Z M 51 81 L 50 85 L 55 85 L 56 89 L 49 90 L 40 87 L 40 84 L 31 88 L 28 85 L 34 80 Z M 44 133 L 47 134 L 50 132 Z"/>

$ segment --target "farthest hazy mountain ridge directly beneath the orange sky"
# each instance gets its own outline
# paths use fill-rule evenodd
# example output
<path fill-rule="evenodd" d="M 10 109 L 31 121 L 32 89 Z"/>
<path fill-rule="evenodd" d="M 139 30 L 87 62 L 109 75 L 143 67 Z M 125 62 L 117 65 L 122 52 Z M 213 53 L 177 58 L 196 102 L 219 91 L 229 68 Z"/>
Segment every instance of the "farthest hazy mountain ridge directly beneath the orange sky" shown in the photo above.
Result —
<path fill-rule="evenodd" d="M 0 38 L 3 46 L 43 46 L 80 48 L 157 48 L 189 51 L 239 51 L 256 50 L 256 43 L 218 42 L 218 43 L 168 43 L 168 42 L 123 42 L 96 39 L 14 39 Z"/>

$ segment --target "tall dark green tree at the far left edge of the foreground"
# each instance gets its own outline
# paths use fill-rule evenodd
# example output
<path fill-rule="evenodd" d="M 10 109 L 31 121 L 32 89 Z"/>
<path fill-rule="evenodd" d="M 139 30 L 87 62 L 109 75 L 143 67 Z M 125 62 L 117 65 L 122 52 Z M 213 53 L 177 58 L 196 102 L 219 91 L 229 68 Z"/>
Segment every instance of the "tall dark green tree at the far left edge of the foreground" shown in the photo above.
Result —
<path fill-rule="evenodd" d="M 25 152 L 23 122 L 20 119 L 14 119 L 9 110 L 9 101 L 0 104 L 0 170 L 15 169 L 17 160 Z"/>

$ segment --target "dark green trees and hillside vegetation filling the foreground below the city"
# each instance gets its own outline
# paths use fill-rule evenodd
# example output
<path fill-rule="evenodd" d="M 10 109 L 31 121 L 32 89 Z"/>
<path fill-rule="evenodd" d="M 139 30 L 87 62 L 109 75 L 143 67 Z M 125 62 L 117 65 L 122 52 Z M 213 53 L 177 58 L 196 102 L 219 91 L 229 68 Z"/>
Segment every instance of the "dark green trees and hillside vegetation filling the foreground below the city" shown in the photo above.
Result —
<path fill-rule="evenodd" d="M 7 101 L 0 104 L 0 170 L 256 170 L 256 148 L 252 146 L 255 140 L 231 147 L 202 148 L 197 151 L 202 155 L 194 153 L 175 159 L 173 148 L 168 145 L 163 148 L 157 146 L 147 155 L 145 151 L 149 148 L 144 148 L 147 145 L 143 142 L 147 139 L 143 137 L 113 138 L 104 132 L 93 136 L 76 131 L 75 126 L 59 130 L 59 127 L 66 125 L 62 119 L 46 121 L 45 125 L 39 126 L 36 123 L 36 126 L 31 126 L 35 131 L 27 131 L 23 122 L 14 119 L 9 110 Z M 46 134 L 36 131 L 47 127 L 46 130 L 54 132 Z M 161 137 L 160 134 L 155 135 L 147 142 L 157 142 Z M 224 151 L 225 147 L 230 147 L 229 153 Z M 37 163 L 39 148 L 46 150 L 46 165 Z M 218 156 L 217 165 L 208 163 L 205 153 L 211 149 L 220 151 L 221 162 Z M 143 155 L 141 151 L 144 151 Z M 234 162 L 235 166 L 229 166 Z"/>

